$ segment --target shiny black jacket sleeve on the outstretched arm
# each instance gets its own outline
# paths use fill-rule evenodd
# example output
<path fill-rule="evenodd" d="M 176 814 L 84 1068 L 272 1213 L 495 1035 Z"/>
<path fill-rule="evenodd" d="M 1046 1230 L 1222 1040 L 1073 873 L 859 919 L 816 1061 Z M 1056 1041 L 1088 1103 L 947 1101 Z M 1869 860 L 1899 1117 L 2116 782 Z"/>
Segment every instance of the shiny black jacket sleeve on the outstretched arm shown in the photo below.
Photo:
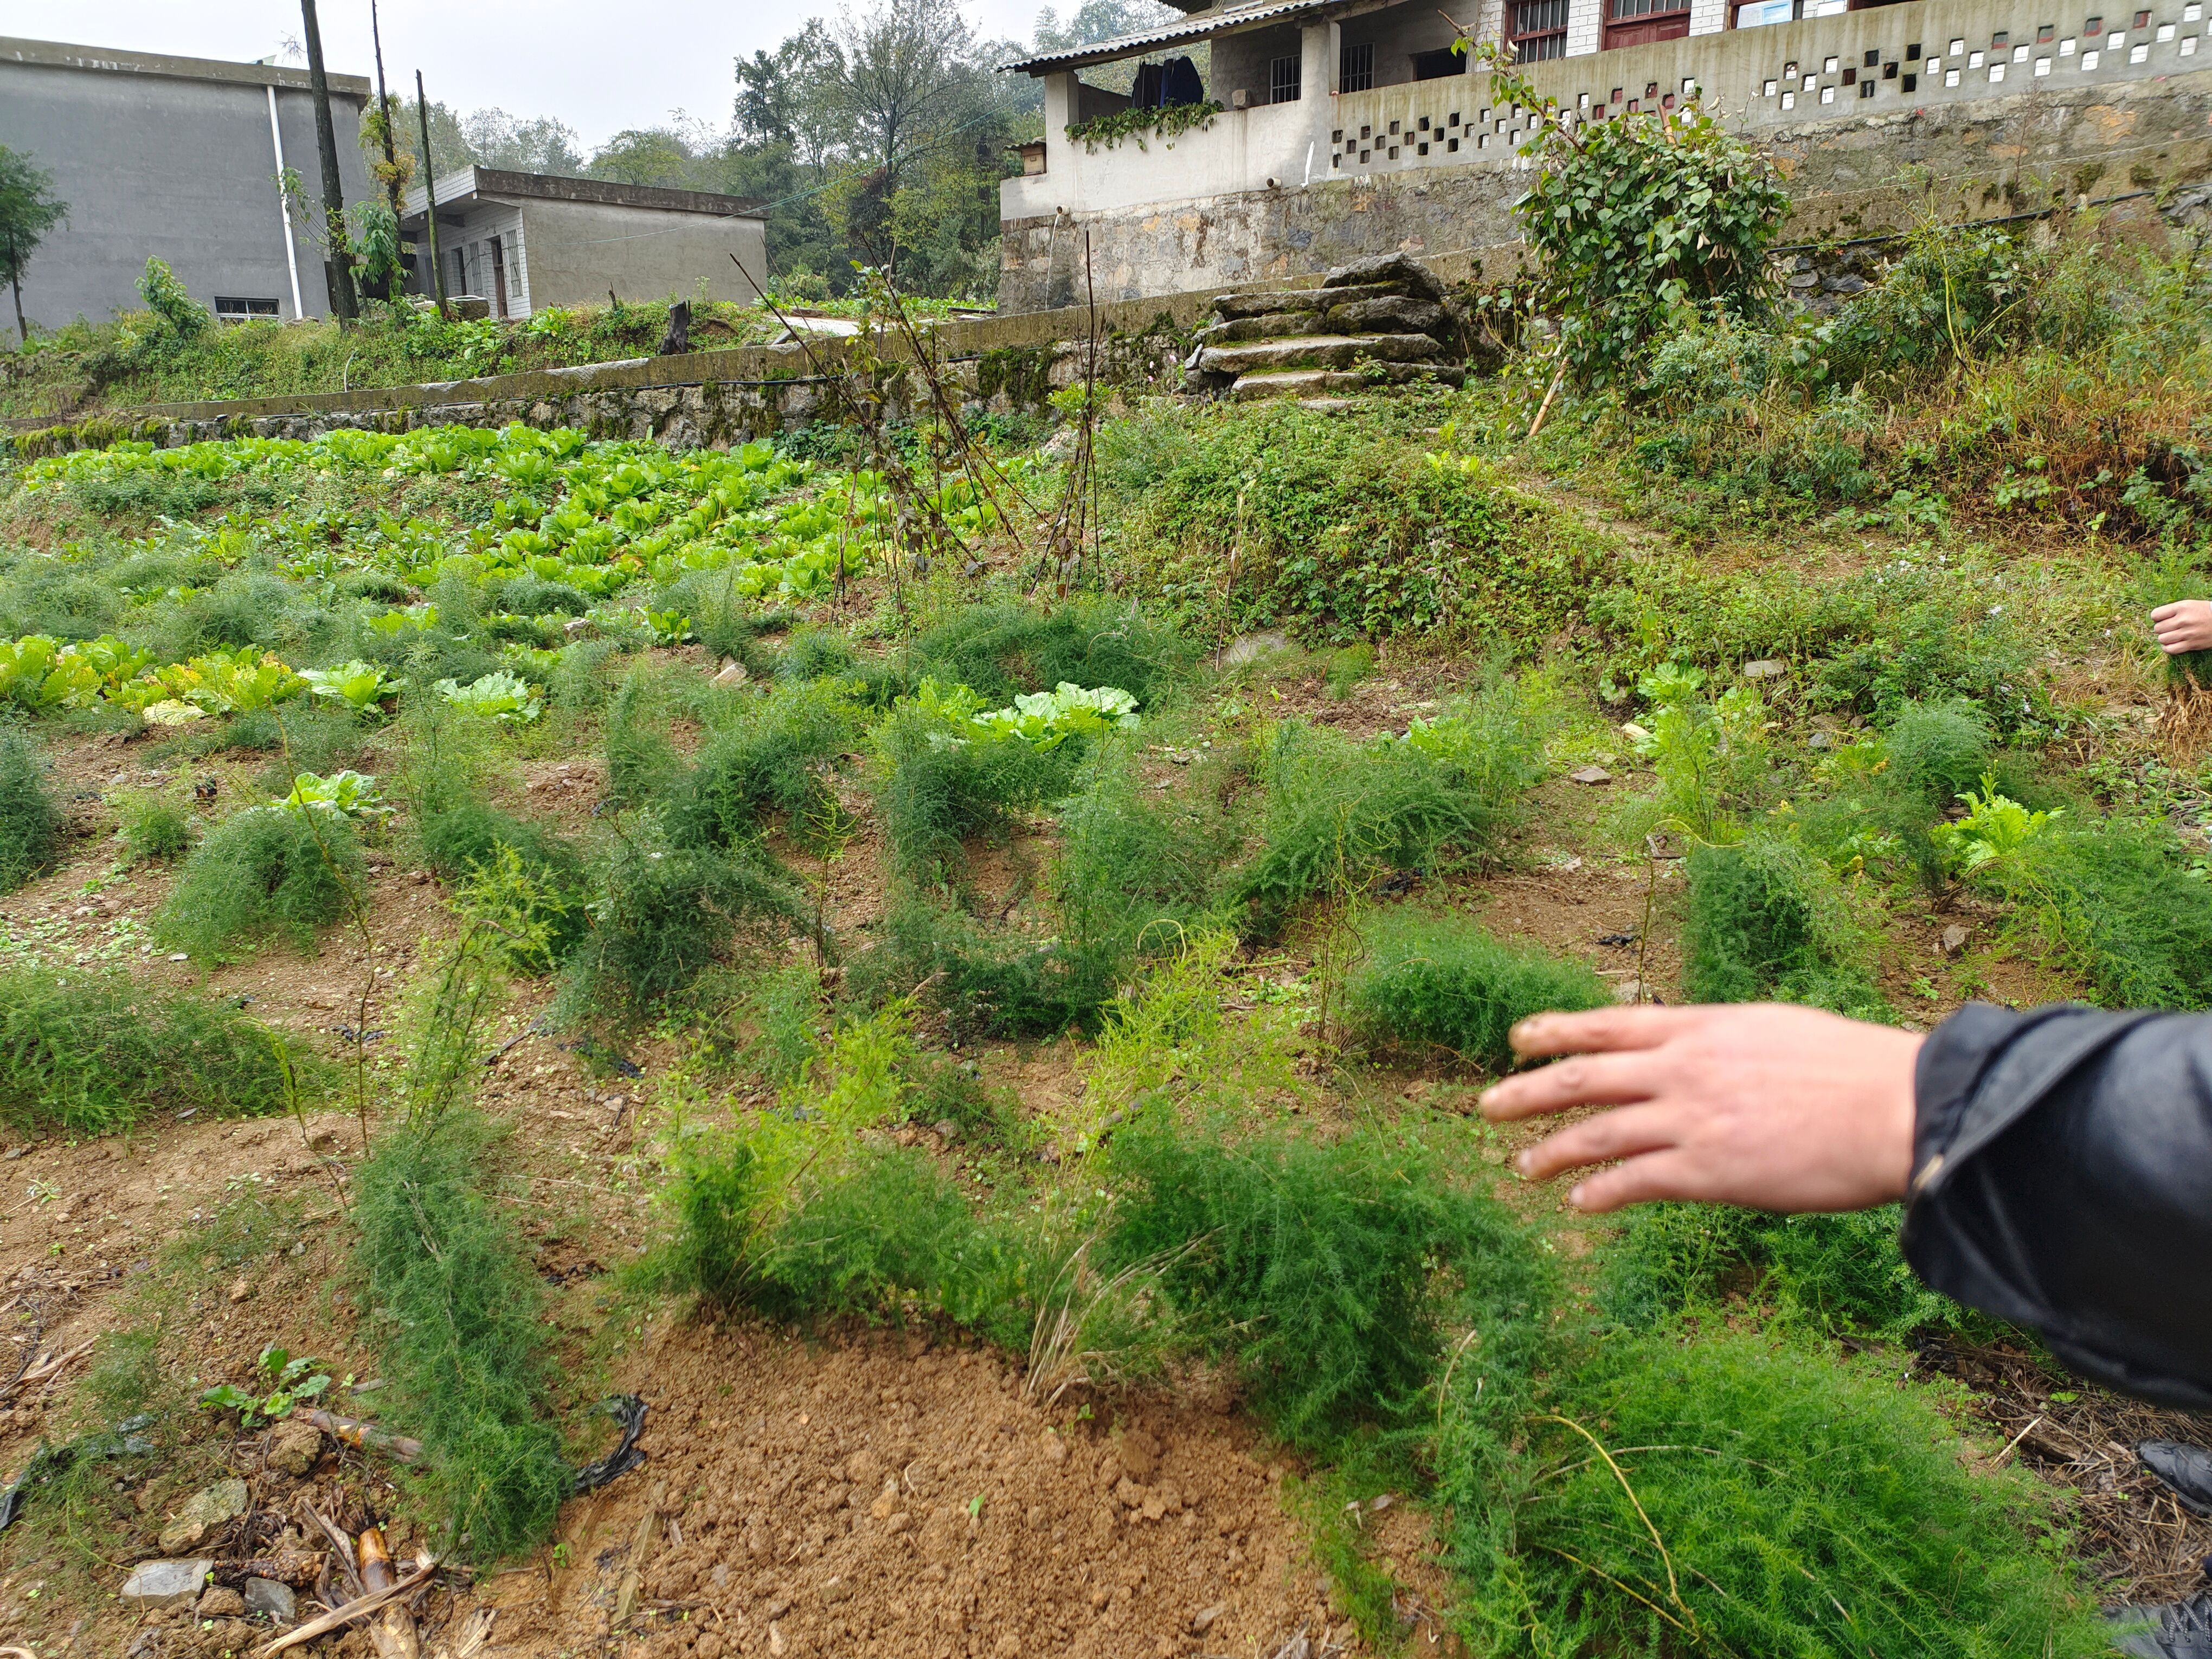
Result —
<path fill-rule="evenodd" d="M 2212 1015 L 1969 1004 L 1916 1095 L 1913 1270 L 2081 1376 L 2212 1409 Z"/>

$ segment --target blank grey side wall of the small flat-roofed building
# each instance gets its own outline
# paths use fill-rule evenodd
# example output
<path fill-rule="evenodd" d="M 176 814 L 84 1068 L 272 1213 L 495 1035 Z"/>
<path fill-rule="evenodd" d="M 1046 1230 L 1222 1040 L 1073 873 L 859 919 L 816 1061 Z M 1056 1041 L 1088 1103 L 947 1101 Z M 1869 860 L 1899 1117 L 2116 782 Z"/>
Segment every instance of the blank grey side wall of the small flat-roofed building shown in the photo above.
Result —
<path fill-rule="evenodd" d="M 524 201 L 522 237 L 531 261 L 531 305 L 540 310 L 604 305 L 611 288 L 630 301 L 692 299 L 701 279 L 710 299 L 750 305 L 752 283 L 739 274 L 732 254 L 757 281 L 768 281 L 761 219 Z"/>

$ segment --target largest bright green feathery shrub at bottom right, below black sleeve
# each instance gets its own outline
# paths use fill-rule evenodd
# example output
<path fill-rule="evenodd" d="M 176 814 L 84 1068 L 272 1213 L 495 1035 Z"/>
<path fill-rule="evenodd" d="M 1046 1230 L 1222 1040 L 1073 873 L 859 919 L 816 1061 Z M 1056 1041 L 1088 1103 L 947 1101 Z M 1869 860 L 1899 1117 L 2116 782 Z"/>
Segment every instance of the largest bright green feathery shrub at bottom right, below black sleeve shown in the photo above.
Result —
<path fill-rule="evenodd" d="M 1515 1462 L 1504 1515 L 1469 1449 L 1442 1480 L 1482 1652 L 2110 1650 L 2048 1491 L 1869 1363 L 1756 1332 L 1615 1338 Z"/>

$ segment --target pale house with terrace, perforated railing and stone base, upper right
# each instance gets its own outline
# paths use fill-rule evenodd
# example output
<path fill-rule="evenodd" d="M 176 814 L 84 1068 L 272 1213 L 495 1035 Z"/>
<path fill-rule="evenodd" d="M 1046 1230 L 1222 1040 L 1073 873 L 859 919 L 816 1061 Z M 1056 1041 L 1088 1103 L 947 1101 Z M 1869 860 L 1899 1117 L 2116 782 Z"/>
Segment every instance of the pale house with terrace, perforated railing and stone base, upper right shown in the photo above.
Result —
<path fill-rule="evenodd" d="M 1871 228 L 1869 204 L 1907 164 L 1947 184 L 1960 217 L 2048 199 L 2084 170 L 2106 190 L 2212 175 L 2205 0 L 1447 11 L 1502 42 L 1573 124 L 1699 95 L 1785 157 L 1820 234 Z M 1389 250 L 1458 276 L 1513 248 L 1533 119 L 1491 95 L 1453 35 L 1433 0 L 1241 0 L 1006 64 L 1044 82 L 1044 144 L 1000 186 L 1000 310 L 1290 281 Z M 1086 73 L 1108 80 L 1097 71 L 1119 64 L 1110 80 L 1150 106 L 1148 86 L 1201 58 L 1203 102 L 1221 106 L 1210 119 L 1172 135 L 1086 131 L 1133 106 Z"/>

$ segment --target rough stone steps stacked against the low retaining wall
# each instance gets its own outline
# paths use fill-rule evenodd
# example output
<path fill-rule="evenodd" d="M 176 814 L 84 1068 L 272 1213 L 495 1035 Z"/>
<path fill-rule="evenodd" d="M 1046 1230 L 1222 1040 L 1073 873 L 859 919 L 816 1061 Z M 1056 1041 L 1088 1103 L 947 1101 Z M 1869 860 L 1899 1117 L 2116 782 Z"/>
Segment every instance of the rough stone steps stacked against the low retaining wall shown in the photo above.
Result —
<path fill-rule="evenodd" d="M 1321 288 L 1223 294 L 1183 361 L 1190 392 L 1343 398 L 1376 387 L 1460 385 L 1458 323 L 1436 276 L 1407 254 L 1338 265 Z"/>

